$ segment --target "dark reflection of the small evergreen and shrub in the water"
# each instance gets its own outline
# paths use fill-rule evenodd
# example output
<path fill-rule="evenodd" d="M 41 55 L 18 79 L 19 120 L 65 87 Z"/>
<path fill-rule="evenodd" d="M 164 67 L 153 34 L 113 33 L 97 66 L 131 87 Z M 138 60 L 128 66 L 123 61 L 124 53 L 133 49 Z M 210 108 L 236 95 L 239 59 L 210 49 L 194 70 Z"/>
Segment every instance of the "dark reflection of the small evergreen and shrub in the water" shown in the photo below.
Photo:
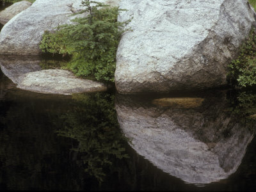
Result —
<path fill-rule="evenodd" d="M 114 109 L 114 96 L 106 93 L 96 95 L 77 94 L 76 108 L 63 116 L 58 134 L 78 141 L 72 148 L 77 163 L 100 182 L 113 161 L 127 157 L 122 144 L 126 142 L 120 132 Z"/>

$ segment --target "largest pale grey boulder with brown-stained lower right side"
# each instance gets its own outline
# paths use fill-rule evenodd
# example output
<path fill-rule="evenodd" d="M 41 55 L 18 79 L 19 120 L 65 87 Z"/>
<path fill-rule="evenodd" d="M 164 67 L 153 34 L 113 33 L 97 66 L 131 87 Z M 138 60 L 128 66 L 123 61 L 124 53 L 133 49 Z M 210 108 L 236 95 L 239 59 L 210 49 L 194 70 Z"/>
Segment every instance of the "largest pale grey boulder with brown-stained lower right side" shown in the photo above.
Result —
<path fill-rule="evenodd" d="M 118 92 L 169 92 L 226 84 L 227 64 L 255 24 L 246 0 L 126 0 Z"/>

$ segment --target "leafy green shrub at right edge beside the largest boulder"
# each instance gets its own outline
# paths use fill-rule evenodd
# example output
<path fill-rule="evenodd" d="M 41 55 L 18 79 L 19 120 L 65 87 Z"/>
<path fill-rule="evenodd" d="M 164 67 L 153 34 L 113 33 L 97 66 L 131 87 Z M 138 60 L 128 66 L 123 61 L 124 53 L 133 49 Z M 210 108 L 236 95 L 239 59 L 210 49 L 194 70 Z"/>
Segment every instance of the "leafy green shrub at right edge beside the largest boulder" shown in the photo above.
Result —
<path fill-rule="evenodd" d="M 241 46 L 239 56 L 230 65 L 228 77 L 239 87 L 256 85 L 256 32 L 252 29 L 246 42 Z"/>

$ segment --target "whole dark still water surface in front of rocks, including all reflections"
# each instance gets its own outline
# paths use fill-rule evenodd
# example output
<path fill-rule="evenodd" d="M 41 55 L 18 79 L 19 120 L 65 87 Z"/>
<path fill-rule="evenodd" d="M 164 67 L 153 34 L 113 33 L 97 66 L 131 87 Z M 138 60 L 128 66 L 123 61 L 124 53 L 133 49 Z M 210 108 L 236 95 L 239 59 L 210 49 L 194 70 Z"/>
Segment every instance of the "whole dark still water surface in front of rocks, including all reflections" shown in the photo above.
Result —
<path fill-rule="evenodd" d="M 0 189 L 254 191 L 256 95 L 178 96 L 44 95 L 0 71 Z"/>

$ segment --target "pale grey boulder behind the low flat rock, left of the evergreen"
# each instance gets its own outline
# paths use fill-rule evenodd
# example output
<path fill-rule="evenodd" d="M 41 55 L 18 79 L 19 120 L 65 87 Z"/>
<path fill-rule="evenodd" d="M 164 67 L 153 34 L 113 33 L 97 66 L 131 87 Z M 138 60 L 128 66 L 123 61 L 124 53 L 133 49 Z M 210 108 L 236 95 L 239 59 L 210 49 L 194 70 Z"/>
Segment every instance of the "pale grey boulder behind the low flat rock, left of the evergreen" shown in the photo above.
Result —
<path fill-rule="evenodd" d="M 45 30 L 70 23 L 81 10 L 81 0 L 37 0 L 11 19 L 0 33 L 0 54 L 40 54 Z"/>

